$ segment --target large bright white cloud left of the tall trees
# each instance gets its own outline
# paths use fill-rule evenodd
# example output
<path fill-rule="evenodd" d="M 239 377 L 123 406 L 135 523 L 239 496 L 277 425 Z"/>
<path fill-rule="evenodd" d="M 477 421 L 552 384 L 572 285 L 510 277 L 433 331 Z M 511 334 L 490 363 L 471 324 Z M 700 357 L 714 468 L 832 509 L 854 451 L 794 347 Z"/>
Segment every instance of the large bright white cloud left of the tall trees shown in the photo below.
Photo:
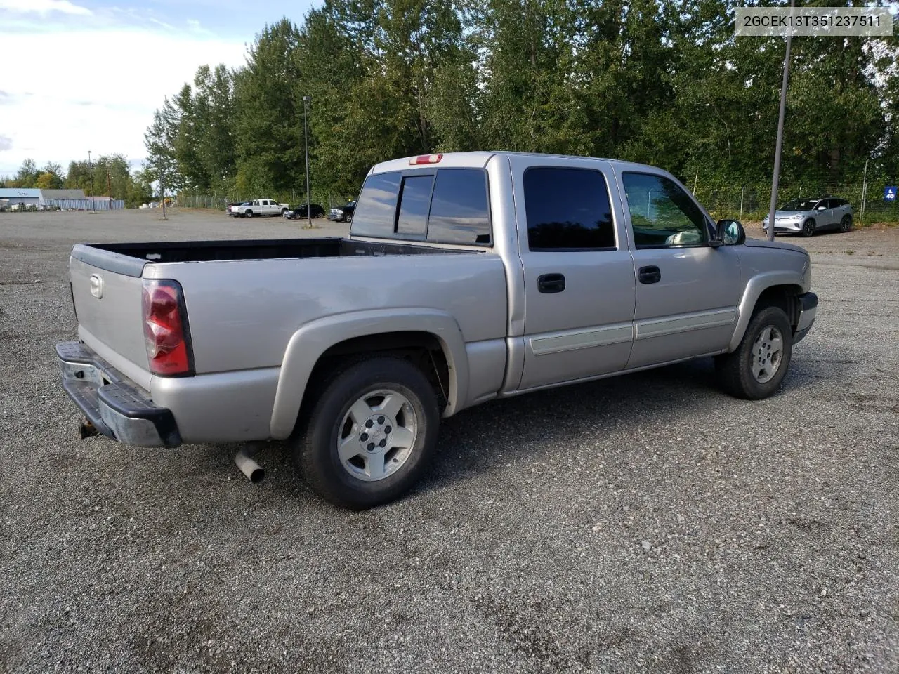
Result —
<path fill-rule="evenodd" d="M 88 150 L 142 157 L 144 132 L 165 96 L 192 83 L 200 65 L 236 67 L 245 56 L 243 41 L 151 27 L 57 28 L 41 44 L 34 49 L 27 31 L 4 32 L 0 40 L 0 63 L 29 55 L 27 67 L 4 68 L 0 176 L 15 173 L 26 157 L 64 168 Z M 72 67 L 75 56 L 93 67 Z"/>

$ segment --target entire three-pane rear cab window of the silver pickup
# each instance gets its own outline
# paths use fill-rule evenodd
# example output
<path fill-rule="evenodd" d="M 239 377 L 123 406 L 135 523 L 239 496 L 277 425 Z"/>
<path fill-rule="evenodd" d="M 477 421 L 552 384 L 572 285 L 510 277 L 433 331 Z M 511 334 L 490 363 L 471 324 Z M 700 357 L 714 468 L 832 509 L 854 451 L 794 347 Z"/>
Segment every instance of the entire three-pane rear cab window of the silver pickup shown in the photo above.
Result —
<path fill-rule="evenodd" d="M 441 244 L 490 245 L 483 169 L 413 169 L 369 175 L 351 234 Z"/>

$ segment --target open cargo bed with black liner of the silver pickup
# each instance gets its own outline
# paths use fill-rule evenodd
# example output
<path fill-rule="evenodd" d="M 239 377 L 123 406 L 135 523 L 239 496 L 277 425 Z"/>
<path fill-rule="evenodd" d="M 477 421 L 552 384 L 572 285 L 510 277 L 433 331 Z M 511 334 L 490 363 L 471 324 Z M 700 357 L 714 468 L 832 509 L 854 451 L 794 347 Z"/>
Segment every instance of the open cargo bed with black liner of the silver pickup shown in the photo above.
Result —
<path fill-rule="evenodd" d="M 114 254 L 110 255 L 109 253 Z M 395 242 L 373 243 L 342 237 L 327 237 L 319 239 L 79 244 L 72 251 L 72 256 L 76 260 L 101 269 L 139 277 L 147 262 L 258 261 L 434 253 L 466 253 L 466 251 Z"/>

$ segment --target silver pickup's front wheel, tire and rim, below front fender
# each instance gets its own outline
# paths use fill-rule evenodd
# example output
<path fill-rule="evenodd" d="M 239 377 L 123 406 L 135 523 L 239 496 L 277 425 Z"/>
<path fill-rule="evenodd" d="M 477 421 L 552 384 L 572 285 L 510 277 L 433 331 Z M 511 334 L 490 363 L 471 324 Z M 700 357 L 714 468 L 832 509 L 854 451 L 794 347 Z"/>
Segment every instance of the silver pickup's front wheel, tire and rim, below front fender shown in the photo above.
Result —
<path fill-rule="evenodd" d="M 793 328 L 779 306 L 752 316 L 740 346 L 715 360 L 722 387 L 730 395 L 761 400 L 773 395 L 793 356 Z"/>

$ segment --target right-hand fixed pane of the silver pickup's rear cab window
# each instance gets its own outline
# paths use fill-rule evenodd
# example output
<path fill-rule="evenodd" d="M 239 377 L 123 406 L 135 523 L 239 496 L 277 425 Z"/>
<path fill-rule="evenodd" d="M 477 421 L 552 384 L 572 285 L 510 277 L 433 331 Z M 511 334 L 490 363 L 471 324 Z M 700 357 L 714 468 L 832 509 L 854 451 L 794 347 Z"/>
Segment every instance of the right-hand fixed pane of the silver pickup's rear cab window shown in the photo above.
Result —
<path fill-rule="evenodd" d="M 489 244 L 487 181 L 480 169 L 437 172 L 428 240 L 447 244 Z"/>

